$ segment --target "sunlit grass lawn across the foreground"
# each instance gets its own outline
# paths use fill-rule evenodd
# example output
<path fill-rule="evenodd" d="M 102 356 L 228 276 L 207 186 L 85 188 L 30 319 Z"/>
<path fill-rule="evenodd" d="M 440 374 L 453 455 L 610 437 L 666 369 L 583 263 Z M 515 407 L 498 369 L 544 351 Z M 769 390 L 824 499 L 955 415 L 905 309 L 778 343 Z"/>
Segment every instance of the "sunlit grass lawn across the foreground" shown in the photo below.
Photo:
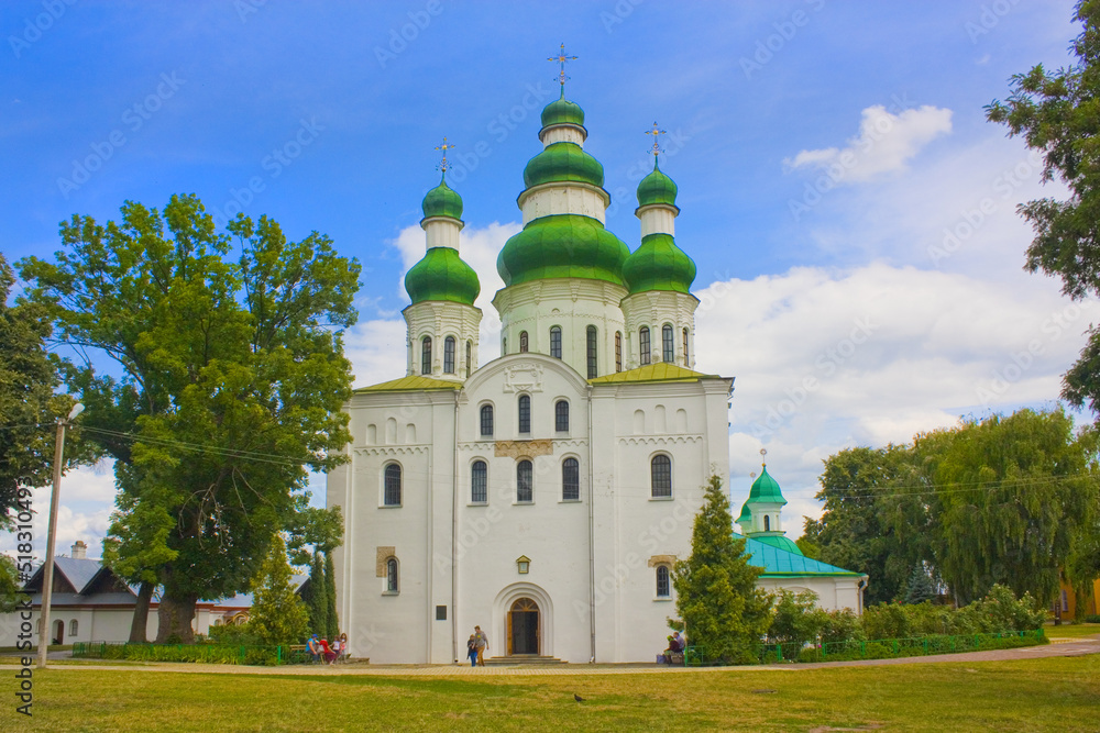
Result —
<path fill-rule="evenodd" d="M 3 697 L 2 731 L 1096 731 L 1100 657 L 479 679 L 69 667 L 35 674 L 31 721 Z"/>

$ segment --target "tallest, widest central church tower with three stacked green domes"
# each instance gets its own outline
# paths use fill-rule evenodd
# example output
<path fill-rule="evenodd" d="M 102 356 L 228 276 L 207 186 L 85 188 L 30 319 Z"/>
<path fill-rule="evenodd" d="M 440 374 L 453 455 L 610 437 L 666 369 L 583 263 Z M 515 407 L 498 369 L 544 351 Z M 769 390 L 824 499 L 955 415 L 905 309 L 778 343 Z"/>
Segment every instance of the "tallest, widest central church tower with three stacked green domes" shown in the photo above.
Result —
<path fill-rule="evenodd" d="M 563 46 L 549 59 L 561 64 L 561 97 L 542 110 L 543 149 L 527 164 L 517 199 L 524 230 L 497 258 L 505 287 L 493 306 L 502 354 L 547 354 L 593 379 L 623 368 L 616 345 L 622 352 L 630 251 L 604 227 L 604 168 L 584 152 L 584 110 L 565 99 L 564 65 L 573 58 Z"/>

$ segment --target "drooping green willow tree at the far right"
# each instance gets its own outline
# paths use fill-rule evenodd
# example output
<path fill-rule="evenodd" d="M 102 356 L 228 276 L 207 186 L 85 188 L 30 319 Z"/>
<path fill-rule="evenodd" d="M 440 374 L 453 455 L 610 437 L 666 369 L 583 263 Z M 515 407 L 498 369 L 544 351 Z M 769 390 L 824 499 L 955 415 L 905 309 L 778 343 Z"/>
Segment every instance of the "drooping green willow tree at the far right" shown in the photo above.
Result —
<path fill-rule="evenodd" d="M 1097 438 L 1062 410 L 1020 410 L 920 436 L 934 485 L 936 569 L 959 603 L 996 584 L 1047 603 L 1096 527 Z"/>

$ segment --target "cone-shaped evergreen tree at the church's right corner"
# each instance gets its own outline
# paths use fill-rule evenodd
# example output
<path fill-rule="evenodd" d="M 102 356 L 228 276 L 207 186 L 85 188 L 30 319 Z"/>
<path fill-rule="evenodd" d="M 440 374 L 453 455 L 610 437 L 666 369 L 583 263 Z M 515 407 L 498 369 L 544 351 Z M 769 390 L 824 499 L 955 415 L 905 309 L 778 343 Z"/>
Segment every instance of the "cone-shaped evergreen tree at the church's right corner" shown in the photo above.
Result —
<path fill-rule="evenodd" d="M 763 571 L 749 565 L 745 540 L 734 538 L 734 518 L 722 480 L 712 476 L 692 529 L 691 556 L 672 574 L 679 620 L 670 625 L 712 659 L 748 664 L 771 623 L 771 598 L 757 587 Z"/>

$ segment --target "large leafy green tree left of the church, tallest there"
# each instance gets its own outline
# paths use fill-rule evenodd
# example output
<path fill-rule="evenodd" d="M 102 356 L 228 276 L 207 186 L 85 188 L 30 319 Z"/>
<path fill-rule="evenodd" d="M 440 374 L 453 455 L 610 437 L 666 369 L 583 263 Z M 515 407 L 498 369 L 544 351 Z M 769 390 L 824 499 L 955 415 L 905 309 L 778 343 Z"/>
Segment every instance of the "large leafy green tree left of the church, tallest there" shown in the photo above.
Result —
<path fill-rule="evenodd" d="M 196 601 L 246 590 L 309 469 L 339 462 L 359 265 L 266 216 L 219 233 L 191 196 L 121 213 L 74 215 L 65 249 L 22 276 L 64 343 L 117 363 L 117 380 L 87 365 L 67 377 L 117 458 L 106 554 L 163 586 L 157 641 L 188 641 Z"/>

